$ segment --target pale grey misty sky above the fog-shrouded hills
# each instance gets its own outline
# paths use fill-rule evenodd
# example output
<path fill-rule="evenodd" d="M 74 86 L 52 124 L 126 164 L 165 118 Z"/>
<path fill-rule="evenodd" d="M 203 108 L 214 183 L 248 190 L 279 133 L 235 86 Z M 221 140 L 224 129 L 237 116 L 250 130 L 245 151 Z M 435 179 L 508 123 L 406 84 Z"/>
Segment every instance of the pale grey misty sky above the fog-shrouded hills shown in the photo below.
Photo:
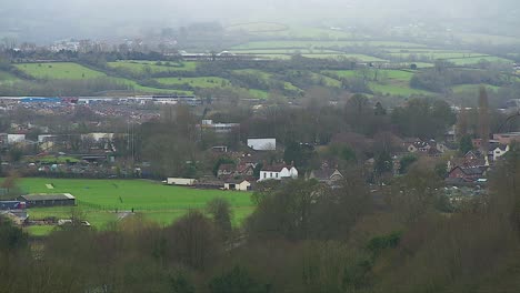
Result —
<path fill-rule="evenodd" d="M 0 33 L 28 39 L 139 34 L 194 21 L 386 23 L 519 18 L 518 0 L 0 0 Z M 288 23 L 288 24 L 291 24 Z"/>

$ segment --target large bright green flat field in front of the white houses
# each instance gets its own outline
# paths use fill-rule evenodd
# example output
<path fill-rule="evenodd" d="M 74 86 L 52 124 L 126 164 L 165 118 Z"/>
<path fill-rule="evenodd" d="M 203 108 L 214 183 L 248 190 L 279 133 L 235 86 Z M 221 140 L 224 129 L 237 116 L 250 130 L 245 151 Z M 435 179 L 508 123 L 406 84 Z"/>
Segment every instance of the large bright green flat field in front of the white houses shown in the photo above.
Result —
<path fill-rule="evenodd" d="M 49 190 L 46 184 L 52 183 Z M 160 224 L 170 224 L 190 209 L 203 209 L 214 198 L 227 199 L 233 208 L 233 223 L 240 224 L 253 210 L 248 192 L 196 190 L 169 186 L 143 180 L 66 180 L 23 179 L 20 188 L 28 193 L 71 193 L 77 198 L 77 208 L 29 209 L 33 220 L 48 216 L 68 219 L 72 209 L 78 209 L 93 226 L 104 229 L 118 220 L 116 211 L 131 211 Z M 43 234 L 51 228 L 32 226 L 29 232 Z"/>

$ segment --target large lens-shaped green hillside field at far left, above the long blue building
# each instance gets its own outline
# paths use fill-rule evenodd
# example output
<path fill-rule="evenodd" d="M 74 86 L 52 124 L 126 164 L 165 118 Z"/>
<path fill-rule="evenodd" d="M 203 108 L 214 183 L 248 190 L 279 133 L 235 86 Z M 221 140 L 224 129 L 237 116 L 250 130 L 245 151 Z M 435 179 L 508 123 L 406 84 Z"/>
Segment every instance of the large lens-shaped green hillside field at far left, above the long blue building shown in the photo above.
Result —
<path fill-rule="evenodd" d="M 16 67 L 37 79 L 96 79 L 107 74 L 72 62 L 20 63 Z"/>

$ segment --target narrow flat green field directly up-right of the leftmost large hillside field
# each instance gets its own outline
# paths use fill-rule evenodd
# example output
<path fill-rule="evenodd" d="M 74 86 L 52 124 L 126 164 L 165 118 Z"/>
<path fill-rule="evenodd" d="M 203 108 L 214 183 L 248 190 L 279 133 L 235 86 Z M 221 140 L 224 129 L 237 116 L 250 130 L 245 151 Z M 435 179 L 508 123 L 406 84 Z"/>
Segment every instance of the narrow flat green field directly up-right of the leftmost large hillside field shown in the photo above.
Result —
<path fill-rule="evenodd" d="M 171 62 L 171 65 L 166 65 L 167 62 L 161 62 L 162 64 L 157 64 L 154 61 L 117 61 L 108 62 L 109 67 L 116 69 L 124 69 L 134 73 L 140 72 L 169 72 L 169 71 L 194 71 L 197 69 L 196 62 L 182 62 L 174 63 Z"/>

